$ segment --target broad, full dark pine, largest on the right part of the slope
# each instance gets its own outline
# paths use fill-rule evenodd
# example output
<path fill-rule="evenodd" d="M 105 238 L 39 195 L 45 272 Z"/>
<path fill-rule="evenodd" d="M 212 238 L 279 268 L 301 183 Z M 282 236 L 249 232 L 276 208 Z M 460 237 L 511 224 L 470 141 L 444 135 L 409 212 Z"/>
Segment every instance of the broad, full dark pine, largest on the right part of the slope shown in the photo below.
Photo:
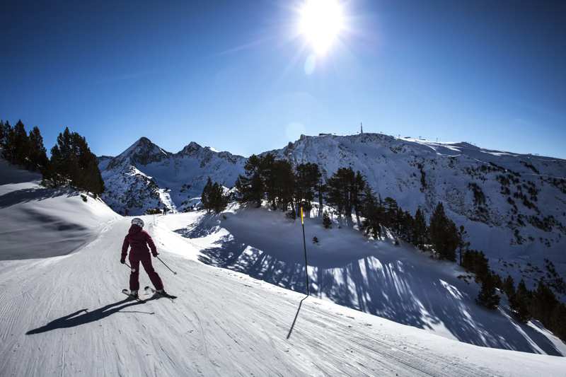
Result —
<path fill-rule="evenodd" d="M 458 247 L 458 230 L 456 224 L 444 213 L 441 202 L 434 209 L 430 218 L 430 240 L 434 250 L 441 259 L 456 262 L 456 248 Z"/>

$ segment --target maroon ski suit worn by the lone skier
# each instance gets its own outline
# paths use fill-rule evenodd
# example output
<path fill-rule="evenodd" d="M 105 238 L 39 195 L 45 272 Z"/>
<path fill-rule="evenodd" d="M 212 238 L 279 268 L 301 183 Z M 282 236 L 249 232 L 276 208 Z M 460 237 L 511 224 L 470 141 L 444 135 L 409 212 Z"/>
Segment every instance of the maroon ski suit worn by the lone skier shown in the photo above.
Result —
<path fill-rule="evenodd" d="M 154 240 L 151 239 L 151 236 L 146 231 L 141 230 L 141 227 L 132 224 L 122 245 L 122 260 L 126 260 L 128 246 L 132 246 L 132 249 L 129 250 L 129 263 L 132 265 L 132 273 L 129 275 L 129 289 L 131 291 L 139 289 L 139 262 L 144 266 L 155 289 L 163 289 L 161 278 L 155 272 L 154 266 L 151 265 L 151 255 L 149 255 L 147 245 L 151 248 L 151 253 L 156 256 L 157 248 L 155 247 Z"/>

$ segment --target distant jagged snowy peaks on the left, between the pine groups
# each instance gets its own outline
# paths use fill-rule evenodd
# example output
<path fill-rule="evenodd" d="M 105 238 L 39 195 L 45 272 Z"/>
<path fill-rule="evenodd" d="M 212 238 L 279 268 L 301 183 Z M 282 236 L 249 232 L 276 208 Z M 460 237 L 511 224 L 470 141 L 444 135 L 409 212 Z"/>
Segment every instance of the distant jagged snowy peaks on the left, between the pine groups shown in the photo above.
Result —
<path fill-rule="evenodd" d="M 191 142 L 171 153 L 141 137 L 114 158 L 99 158 L 103 199 L 122 214 L 168 207 L 183 211 L 198 199 L 207 178 L 231 187 L 246 158 Z"/>

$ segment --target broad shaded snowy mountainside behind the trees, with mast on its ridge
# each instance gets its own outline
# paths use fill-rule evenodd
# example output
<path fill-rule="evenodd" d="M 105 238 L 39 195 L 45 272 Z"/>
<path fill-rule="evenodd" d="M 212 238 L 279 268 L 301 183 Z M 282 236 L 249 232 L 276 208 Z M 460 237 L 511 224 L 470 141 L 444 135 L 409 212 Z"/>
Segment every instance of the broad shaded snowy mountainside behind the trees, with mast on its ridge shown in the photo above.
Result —
<path fill-rule="evenodd" d="M 272 153 L 318 163 L 327 175 L 351 166 L 413 214 L 421 207 L 430 215 L 443 202 L 471 248 L 484 250 L 504 276 L 533 282 L 545 258 L 566 275 L 564 160 L 383 134 L 301 137 Z"/>

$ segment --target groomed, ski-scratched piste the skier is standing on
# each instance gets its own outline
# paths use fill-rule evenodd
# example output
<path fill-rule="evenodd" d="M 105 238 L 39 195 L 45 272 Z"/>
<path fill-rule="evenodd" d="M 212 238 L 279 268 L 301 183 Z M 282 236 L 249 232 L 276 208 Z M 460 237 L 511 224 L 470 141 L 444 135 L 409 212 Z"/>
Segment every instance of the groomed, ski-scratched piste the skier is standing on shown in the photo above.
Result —
<path fill-rule="evenodd" d="M 316 298 L 296 315 L 301 294 L 171 253 L 162 257 L 176 277 L 154 265 L 179 297 L 127 301 L 120 290 L 129 271 L 119 259 L 128 227 L 129 219 L 117 220 L 70 255 L 0 262 L 0 376 L 516 374 L 502 372 L 509 361 L 492 371 L 451 353 L 457 342 L 426 335 L 448 346 L 428 349 L 391 330 L 405 326 Z M 148 284 L 142 272 L 140 285 Z M 484 357 L 505 352 L 461 347 Z M 529 358 L 537 368 L 560 359 Z"/>

